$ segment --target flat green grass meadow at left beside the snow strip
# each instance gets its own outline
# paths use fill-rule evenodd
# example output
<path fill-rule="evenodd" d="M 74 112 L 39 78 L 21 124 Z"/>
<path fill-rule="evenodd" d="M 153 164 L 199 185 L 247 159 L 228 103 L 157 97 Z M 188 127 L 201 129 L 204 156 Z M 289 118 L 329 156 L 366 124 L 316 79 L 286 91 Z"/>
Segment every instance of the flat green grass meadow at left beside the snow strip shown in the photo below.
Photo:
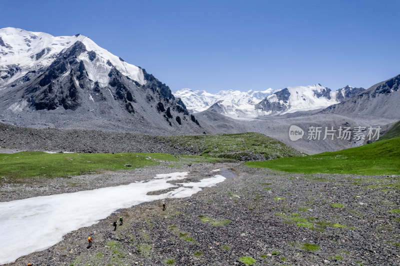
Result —
<path fill-rule="evenodd" d="M 0 176 L 68 177 L 107 170 L 138 168 L 160 161 L 178 161 L 163 153 L 45 153 L 18 152 L 0 154 Z M 124 166 L 130 164 L 131 167 Z"/>

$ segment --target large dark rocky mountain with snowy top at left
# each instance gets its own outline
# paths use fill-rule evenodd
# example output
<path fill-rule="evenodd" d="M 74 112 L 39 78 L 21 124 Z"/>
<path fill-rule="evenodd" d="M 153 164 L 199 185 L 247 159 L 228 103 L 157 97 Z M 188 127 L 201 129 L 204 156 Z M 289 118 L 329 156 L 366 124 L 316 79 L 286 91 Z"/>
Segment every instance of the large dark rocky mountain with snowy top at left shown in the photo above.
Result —
<path fill-rule="evenodd" d="M 180 99 L 80 34 L 0 29 L 0 118 L 35 127 L 195 132 Z"/>

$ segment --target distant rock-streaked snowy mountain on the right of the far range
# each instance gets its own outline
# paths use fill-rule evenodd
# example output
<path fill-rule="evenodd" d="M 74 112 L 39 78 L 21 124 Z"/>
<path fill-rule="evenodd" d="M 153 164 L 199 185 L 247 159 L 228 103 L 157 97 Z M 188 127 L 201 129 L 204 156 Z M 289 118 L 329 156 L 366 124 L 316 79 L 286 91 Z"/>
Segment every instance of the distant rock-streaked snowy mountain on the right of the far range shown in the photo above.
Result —
<path fill-rule="evenodd" d="M 345 101 L 362 92 L 364 88 L 345 86 L 336 91 L 321 84 L 287 87 L 275 92 L 255 105 L 267 114 L 285 114 L 296 111 L 316 110 Z"/>

